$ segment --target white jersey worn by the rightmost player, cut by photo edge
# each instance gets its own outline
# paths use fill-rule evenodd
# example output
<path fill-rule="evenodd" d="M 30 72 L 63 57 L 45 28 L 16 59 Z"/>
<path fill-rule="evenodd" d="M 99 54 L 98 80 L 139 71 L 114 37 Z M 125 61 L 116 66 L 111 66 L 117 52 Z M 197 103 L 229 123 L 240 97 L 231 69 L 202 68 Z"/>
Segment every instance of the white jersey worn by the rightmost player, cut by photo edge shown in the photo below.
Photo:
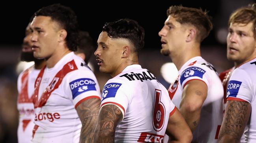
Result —
<path fill-rule="evenodd" d="M 227 100 L 247 101 L 252 106 L 245 128 L 246 143 L 256 142 L 256 58 L 237 67 L 228 82 Z"/>

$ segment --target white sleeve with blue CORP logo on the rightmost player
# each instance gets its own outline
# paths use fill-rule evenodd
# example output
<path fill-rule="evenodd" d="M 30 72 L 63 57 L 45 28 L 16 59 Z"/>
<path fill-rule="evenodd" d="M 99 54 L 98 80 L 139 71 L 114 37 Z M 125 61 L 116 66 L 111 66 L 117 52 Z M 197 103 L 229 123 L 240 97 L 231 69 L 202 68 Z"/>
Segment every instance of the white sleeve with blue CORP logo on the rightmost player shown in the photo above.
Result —
<path fill-rule="evenodd" d="M 227 100 L 247 101 L 251 103 L 252 95 L 249 75 L 242 69 L 235 69 L 228 82 Z"/>

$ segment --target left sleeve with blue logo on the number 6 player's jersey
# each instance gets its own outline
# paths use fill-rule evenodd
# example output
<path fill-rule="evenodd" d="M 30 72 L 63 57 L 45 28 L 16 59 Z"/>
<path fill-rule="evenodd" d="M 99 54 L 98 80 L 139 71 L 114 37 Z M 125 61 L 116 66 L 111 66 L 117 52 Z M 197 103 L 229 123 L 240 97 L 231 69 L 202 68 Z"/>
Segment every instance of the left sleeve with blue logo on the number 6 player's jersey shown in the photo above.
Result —
<path fill-rule="evenodd" d="M 129 89 L 131 88 L 121 80 L 109 80 L 102 91 L 101 108 L 108 104 L 114 104 L 121 110 L 124 118 L 129 104 Z"/>

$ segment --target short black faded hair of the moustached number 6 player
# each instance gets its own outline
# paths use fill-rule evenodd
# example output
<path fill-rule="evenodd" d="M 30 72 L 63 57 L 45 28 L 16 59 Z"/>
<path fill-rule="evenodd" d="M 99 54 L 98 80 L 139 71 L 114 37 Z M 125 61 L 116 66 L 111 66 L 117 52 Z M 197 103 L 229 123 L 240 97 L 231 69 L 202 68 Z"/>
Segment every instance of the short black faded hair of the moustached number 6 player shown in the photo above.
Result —
<path fill-rule="evenodd" d="M 138 22 L 131 19 L 121 19 L 116 22 L 108 22 L 104 25 L 103 32 L 107 32 L 110 38 L 125 38 L 133 43 L 135 51 L 144 47 L 144 28 Z"/>

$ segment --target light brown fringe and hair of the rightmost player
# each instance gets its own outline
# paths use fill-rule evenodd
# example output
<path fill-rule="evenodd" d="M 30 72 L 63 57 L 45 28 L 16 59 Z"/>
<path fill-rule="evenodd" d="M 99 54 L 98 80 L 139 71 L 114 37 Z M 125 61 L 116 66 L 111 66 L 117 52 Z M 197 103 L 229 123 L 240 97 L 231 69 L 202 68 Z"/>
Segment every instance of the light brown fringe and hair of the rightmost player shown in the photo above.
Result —
<path fill-rule="evenodd" d="M 231 23 L 249 24 L 252 22 L 252 31 L 254 38 L 256 38 L 256 4 L 249 4 L 248 6 L 236 9 L 228 20 L 228 26 Z"/>

